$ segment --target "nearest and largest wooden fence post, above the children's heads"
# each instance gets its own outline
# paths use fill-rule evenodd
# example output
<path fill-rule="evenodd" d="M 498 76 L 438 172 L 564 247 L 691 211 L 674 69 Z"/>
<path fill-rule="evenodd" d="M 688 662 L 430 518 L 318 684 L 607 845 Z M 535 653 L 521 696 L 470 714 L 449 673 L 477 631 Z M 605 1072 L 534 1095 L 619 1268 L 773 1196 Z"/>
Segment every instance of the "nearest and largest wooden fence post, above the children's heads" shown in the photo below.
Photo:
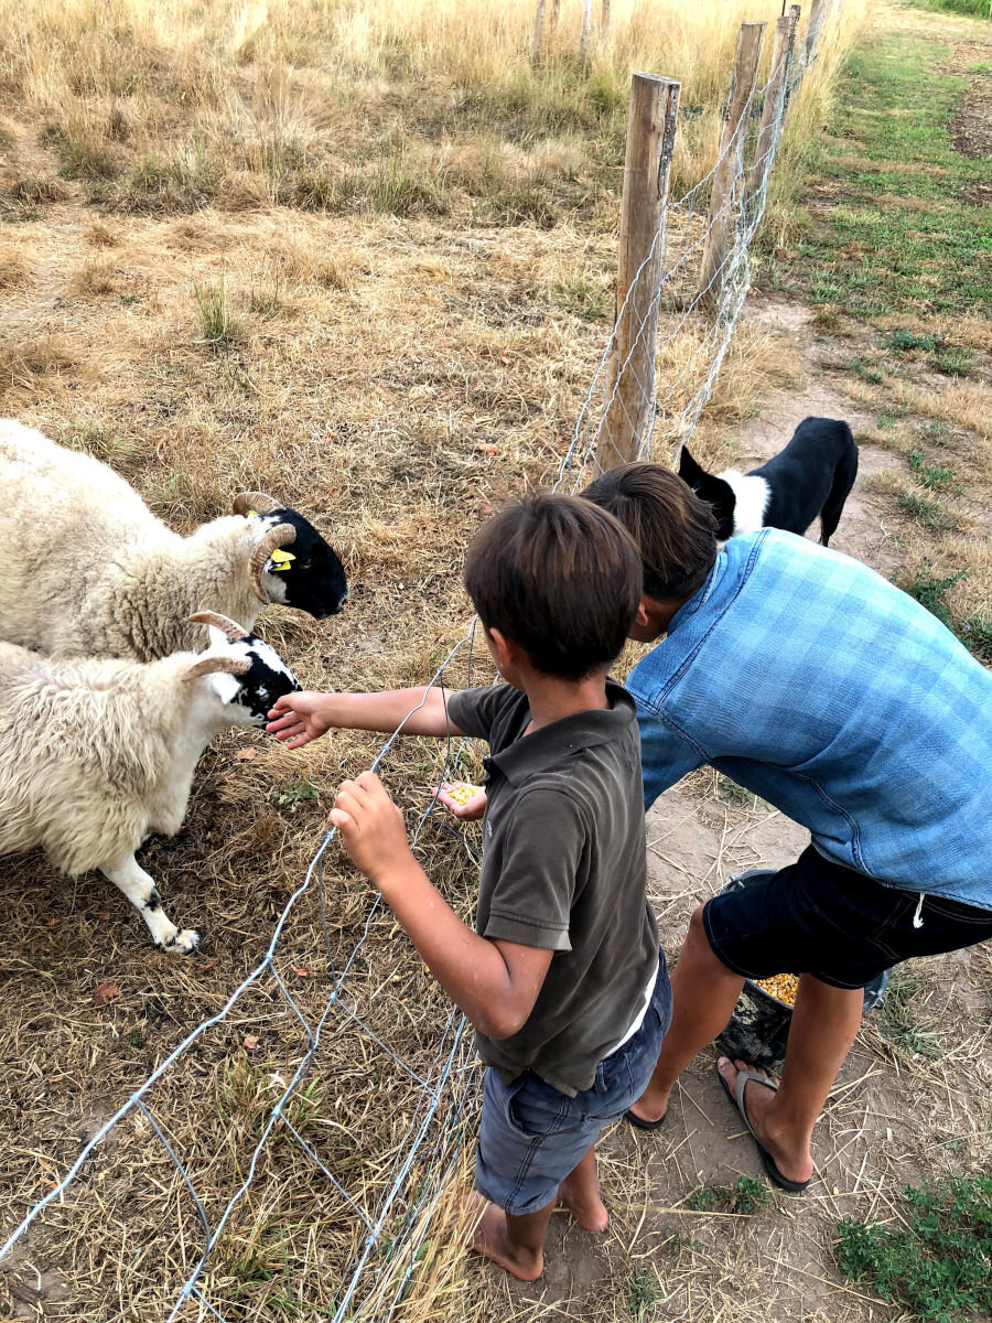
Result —
<path fill-rule="evenodd" d="M 597 437 L 603 468 L 636 459 L 651 427 L 661 239 L 680 87 L 675 79 L 655 74 L 634 74 L 631 82 L 614 344 L 606 376 L 607 407 Z"/>

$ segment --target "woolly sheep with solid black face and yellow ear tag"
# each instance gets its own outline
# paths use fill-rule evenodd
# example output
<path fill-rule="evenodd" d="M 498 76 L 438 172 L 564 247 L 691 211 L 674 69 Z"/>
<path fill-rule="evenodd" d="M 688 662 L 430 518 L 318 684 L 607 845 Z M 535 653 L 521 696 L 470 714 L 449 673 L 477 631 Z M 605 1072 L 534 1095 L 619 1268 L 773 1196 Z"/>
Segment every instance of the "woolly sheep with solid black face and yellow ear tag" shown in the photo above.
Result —
<path fill-rule="evenodd" d="M 0 639 L 151 662 L 202 646 L 204 607 L 246 630 L 266 602 L 341 610 L 344 569 L 312 524 L 261 492 L 234 512 L 180 537 L 98 459 L 0 419 Z"/>

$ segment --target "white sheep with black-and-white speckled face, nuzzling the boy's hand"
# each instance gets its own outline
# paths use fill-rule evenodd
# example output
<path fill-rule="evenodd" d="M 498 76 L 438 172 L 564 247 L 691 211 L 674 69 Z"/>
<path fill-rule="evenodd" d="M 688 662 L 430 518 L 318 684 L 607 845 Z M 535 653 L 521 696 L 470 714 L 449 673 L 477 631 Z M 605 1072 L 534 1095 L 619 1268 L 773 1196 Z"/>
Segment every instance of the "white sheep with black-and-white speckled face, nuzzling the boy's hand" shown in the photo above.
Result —
<path fill-rule="evenodd" d="M 0 855 L 41 848 L 75 876 L 99 869 L 165 951 L 198 934 L 169 922 L 135 851 L 175 836 L 193 770 L 230 725 L 261 726 L 299 689 L 279 655 L 212 611 L 209 648 L 156 662 L 54 659 L 0 643 Z"/>

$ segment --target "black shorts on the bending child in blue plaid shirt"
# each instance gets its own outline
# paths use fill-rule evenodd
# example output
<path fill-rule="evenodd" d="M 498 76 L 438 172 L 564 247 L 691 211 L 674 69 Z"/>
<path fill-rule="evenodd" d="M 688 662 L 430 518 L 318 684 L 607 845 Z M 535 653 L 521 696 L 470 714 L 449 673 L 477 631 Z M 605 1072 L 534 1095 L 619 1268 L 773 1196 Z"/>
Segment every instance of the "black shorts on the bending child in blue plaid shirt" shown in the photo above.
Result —
<path fill-rule="evenodd" d="M 734 974 L 812 974 L 835 988 L 862 988 L 899 960 L 987 941 L 992 910 L 940 896 L 925 896 L 921 906 L 919 892 L 886 886 L 809 845 L 766 880 L 714 896 L 702 926 Z"/>

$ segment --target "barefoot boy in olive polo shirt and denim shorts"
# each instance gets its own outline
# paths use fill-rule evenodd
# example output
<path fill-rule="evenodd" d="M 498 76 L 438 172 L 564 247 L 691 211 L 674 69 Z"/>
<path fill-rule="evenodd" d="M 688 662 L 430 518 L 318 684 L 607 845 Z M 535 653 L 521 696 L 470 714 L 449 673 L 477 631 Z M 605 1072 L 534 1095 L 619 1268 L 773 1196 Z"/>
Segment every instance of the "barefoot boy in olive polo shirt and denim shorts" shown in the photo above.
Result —
<path fill-rule="evenodd" d="M 542 496 L 479 531 L 466 587 L 507 684 L 294 693 L 269 729 L 291 749 L 332 726 L 401 722 L 489 744 L 475 931 L 425 876 L 376 775 L 345 781 L 331 820 L 476 1028 L 489 1068 L 476 1188 L 491 1204 L 472 1244 L 533 1281 L 558 1200 L 587 1230 L 606 1228 L 595 1140 L 640 1097 L 671 1017 L 644 890 L 636 712 L 607 679 L 640 601 L 640 557 L 611 515 Z"/>

